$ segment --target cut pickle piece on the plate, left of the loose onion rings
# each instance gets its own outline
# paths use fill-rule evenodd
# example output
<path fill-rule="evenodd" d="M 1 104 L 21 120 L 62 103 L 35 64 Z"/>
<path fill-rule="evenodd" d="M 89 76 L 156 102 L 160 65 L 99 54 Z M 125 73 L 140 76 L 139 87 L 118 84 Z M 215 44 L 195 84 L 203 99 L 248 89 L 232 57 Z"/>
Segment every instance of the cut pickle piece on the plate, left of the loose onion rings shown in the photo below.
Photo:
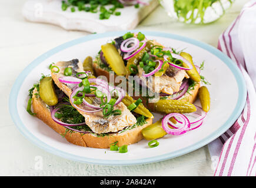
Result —
<path fill-rule="evenodd" d="M 149 125 L 141 130 L 142 136 L 146 140 L 154 140 L 159 137 L 163 137 L 167 133 L 162 129 L 162 119 L 159 119 L 157 122 Z"/>

